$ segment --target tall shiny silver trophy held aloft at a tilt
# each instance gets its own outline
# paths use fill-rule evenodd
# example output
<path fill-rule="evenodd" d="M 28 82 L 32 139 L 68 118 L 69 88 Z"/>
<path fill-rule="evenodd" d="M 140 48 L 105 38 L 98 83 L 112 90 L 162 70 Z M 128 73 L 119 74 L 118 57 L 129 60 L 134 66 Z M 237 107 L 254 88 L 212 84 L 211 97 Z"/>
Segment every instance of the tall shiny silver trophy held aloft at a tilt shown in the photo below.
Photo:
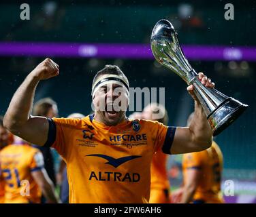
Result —
<path fill-rule="evenodd" d="M 214 88 L 202 85 L 197 73 L 185 58 L 178 42 L 178 34 L 168 20 L 159 20 L 155 24 L 151 35 L 151 50 L 157 62 L 174 71 L 187 85 L 193 84 L 195 95 L 212 127 L 213 136 L 225 130 L 248 106 Z"/>

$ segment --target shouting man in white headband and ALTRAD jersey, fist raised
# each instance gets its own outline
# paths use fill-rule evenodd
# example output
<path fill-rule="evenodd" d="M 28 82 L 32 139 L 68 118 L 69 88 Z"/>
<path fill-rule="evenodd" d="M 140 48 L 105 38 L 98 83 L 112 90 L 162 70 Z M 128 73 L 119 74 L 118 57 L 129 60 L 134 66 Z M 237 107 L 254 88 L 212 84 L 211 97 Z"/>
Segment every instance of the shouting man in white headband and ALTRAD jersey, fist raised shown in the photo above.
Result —
<path fill-rule="evenodd" d="M 70 203 L 148 203 L 153 153 L 202 151 L 212 144 L 212 130 L 195 94 L 195 118 L 189 127 L 130 120 L 129 81 L 118 66 L 99 71 L 91 90 L 94 115 L 83 119 L 29 115 L 39 81 L 59 75 L 47 58 L 35 67 L 14 94 L 3 123 L 13 134 L 40 146 L 52 146 L 67 163 Z M 199 80 L 214 87 L 203 73 Z M 202 130 L 204 129 L 204 130 Z"/>

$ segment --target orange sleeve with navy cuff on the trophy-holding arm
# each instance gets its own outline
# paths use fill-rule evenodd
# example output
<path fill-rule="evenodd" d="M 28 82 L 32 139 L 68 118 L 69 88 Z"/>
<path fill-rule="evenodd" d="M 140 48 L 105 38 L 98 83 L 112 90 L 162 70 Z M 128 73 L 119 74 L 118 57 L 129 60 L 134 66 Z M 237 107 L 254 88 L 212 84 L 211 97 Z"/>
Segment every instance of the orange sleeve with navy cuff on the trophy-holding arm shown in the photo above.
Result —
<path fill-rule="evenodd" d="M 155 152 L 161 149 L 163 153 L 171 154 L 170 150 L 174 140 L 176 127 L 167 127 L 158 121 L 154 121 L 153 123 L 153 130 L 155 132 Z"/>

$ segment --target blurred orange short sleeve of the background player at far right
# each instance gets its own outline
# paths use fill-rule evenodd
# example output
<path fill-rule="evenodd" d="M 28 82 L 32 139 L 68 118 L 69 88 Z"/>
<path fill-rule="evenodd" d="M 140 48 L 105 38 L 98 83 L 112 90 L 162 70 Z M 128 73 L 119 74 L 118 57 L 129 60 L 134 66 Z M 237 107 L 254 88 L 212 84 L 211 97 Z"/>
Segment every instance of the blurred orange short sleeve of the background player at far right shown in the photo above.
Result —
<path fill-rule="evenodd" d="M 202 168 L 202 157 L 200 152 L 187 153 L 183 155 L 182 165 L 185 170 Z"/>

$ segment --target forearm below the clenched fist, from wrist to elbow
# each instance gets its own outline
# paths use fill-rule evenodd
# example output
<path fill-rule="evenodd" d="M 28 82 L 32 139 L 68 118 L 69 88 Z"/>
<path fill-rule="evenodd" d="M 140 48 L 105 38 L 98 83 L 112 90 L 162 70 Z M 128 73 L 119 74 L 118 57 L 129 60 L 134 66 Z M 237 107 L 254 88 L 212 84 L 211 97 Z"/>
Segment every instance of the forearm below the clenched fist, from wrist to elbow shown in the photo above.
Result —
<path fill-rule="evenodd" d="M 9 130 L 16 131 L 16 127 L 22 126 L 29 119 L 35 87 L 38 82 L 39 79 L 32 72 L 18 87 L 3 120 L 5 127 Z"/>

